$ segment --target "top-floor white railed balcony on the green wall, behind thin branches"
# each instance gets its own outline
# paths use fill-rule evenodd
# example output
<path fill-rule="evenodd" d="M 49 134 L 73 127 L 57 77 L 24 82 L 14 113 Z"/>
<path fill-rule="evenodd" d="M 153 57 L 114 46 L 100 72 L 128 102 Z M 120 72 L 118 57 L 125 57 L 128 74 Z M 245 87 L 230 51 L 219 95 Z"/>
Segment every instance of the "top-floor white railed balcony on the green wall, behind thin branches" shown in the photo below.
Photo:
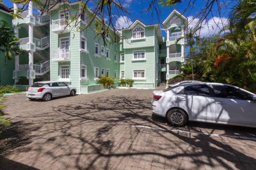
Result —
<path fill-rule="evenodd" d="M 68 20 L 65 18 L 52 20 L 52 32 L 55 34 L 65 34 L 69 33 Z"/>

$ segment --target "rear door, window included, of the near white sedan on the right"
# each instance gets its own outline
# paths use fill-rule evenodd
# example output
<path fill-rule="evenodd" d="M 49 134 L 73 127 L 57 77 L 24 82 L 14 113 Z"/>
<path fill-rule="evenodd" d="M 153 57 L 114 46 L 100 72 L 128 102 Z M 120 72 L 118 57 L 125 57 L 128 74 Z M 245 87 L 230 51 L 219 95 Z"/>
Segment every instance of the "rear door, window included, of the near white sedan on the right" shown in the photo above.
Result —
<path fill-rule="evenodd" d="M 177 101 L 186 108 L 192 119 L 215 121 L 215 100 L 211 96 L 208 85 L 185 87 L 178 93 Z"/>

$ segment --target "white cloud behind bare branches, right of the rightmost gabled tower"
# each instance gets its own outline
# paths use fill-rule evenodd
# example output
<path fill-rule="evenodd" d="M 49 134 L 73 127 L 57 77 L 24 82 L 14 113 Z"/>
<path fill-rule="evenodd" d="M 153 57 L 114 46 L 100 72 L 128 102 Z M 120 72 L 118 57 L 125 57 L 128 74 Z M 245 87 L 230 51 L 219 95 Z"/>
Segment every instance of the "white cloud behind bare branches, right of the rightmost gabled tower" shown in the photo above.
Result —
<path fill-rule="evenodd" d="M 199 19 L 195 18 L 192 20 L 193 17 L 189 16 L 189 27 L 194 28 L 195 25 L 198 23 Z M 208 23 L 208 24 L 207 24 Z M 225 17 L 212 17 L 211 19 L 207 20 L 207 22 L 204 20 L 202 22 L 202 28 L 200 30 L 200 36 L 209 36 L 212 34 L 217 34 L 220 29 L 223 28 L 223 26 L 227 25 L 227 18 Z M 199 31 L 197 32 L 199 34 Z"/>

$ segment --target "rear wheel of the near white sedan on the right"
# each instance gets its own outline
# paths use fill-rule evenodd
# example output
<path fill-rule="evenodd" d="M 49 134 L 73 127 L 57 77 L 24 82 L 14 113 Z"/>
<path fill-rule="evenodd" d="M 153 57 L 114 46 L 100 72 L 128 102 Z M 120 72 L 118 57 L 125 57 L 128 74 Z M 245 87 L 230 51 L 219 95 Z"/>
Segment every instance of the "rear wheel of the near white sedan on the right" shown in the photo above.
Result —
<path fill-rule="evenodd" d="M 182 127 L 186 125 L 186 113 L 180 109 L 172 109 L 167 113 L 168 122 L 172 126 Z"/>

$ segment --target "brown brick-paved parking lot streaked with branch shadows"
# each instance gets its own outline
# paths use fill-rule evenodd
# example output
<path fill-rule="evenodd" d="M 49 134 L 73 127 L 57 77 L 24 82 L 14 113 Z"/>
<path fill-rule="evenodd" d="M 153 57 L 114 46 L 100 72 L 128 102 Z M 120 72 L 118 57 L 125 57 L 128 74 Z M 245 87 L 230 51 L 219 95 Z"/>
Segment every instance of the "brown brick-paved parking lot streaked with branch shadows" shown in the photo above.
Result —
<path fill-rule="evenodd" d="M 29 101 L 8 96 L 0 169 L 255 170 L 256 129 L 189 122 L 150 110 L 153 90 L 112 89 Z"/>

